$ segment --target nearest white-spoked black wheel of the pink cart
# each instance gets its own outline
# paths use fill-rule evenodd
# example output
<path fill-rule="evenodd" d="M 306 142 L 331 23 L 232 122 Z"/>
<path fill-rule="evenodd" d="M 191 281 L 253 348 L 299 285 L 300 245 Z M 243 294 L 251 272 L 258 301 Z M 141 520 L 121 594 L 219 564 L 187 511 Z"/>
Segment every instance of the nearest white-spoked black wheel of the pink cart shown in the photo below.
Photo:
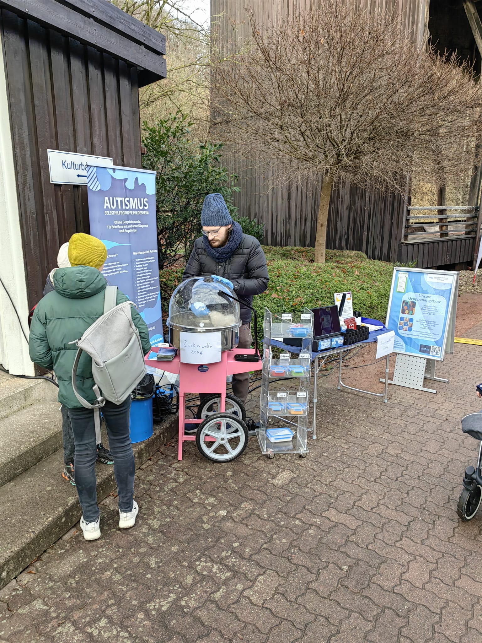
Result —
<path fill-rule="evenodd" d="M 247 446 L 247 426 L 242 419 L 229 413 L 214 413 L 207 417 L 196 433 L 196 446 L 202 455 L 213 462 L 231 462 Z"/>

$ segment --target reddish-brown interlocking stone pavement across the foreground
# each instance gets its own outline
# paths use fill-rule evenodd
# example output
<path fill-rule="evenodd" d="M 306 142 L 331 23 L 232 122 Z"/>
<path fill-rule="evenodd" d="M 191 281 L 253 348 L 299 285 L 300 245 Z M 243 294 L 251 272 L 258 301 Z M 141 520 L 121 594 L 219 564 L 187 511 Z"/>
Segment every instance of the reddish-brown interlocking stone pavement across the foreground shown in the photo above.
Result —
<path fill-rule="evenodd" d="M 479 643 L 482 516 L 460 523 L 456 502 L 482 348 L 455 350 L 437 395 L 323 379 L 305 459 L 166 447 L 138 473 L 134 529 L 108 498 L 100 540 L 72 530 L 0 592 L 0 640 Z"/>

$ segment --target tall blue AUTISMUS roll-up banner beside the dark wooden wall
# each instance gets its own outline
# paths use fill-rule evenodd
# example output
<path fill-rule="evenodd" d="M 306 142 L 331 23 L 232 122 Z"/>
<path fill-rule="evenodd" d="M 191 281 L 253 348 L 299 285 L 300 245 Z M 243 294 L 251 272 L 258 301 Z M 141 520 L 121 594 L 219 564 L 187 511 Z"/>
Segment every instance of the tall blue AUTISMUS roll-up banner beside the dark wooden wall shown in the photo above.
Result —
<path fill-rule="evenodd" d="M 150 342 L 164 341 L 157 257 L 156 172 L 87 169 L 91 235 L 107 247 L 102 274 L 139 307 Z"/>

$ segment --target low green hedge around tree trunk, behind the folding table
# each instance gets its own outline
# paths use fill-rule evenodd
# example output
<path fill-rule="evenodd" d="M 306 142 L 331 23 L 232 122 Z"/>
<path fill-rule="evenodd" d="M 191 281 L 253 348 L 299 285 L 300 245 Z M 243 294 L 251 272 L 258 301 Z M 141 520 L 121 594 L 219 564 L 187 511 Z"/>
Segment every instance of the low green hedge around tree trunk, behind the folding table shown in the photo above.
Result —
<path fill-rule="evenodd" d="M 305 307 L 332 305 L 333 293 L 352 291 L 353 308 L 363 316 L 384 321 L 393 265 L 371 261 L 361 252 L 326 251 L 326 263 L 314 264 L 313 248 L 263 246 L 268 262 L 269 287 L 254 297 L 262 336 L 265 307 L 275 314 L 302 312 Z M 289 258 L 287 258 L 289 257 Z M 163 309 L 181 280 L 183 269 L 161 271 Z"/>

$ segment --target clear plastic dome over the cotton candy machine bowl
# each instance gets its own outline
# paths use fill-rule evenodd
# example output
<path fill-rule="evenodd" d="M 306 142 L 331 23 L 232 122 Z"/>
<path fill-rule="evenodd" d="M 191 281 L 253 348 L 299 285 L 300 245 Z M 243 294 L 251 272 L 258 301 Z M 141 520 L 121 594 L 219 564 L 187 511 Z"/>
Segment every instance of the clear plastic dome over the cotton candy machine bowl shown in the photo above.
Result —
<path fill-rule="evenodd" d="M 239 303 L 227 285 L 212 277 L 192 277 L 179 284 L 169 302 L 167 325 L 179 330 L 239 327 Z"/>

